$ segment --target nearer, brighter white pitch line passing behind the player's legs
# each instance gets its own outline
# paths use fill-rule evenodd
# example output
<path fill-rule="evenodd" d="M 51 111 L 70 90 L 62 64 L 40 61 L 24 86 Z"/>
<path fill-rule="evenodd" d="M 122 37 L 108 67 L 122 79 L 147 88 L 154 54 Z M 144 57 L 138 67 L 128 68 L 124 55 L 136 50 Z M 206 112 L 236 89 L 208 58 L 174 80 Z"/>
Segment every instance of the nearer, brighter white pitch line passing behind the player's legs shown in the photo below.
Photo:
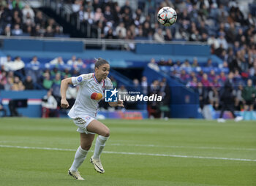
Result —
<path fill-rule="evenodd" d="M 49 147 L 23 147 L 23 146 L 12 146 L 12 145 L 1 145 L 0 147 L 7 148 L 18 148 L 18 149 L 29 149 L 29 150 L 58 150 L 58 151 L 73 151 L 72 149 L 60 149 L 60 148 L 49 148 Z M 90 150 L 90 152 L 93 152 Z M 200 159 L 213 159 L 213 160 L 238 160 L 238 161 L 255 161 L 251 159 L 241 159 L 241 158 L 218 158 L 218 157 L 206 157 L 206 156 L 193 156 L 193 155 L 165 155 L 165 154 L 153 154 L 153 153 L 141 153 L 141 152 L 112 152 L 103 151 L 106 154 L 118 154 L 118 155 L 149 155 L 149 156 L 162 156 L 162 157 L 173 157 L 173 158 L 200 158 Z"/>

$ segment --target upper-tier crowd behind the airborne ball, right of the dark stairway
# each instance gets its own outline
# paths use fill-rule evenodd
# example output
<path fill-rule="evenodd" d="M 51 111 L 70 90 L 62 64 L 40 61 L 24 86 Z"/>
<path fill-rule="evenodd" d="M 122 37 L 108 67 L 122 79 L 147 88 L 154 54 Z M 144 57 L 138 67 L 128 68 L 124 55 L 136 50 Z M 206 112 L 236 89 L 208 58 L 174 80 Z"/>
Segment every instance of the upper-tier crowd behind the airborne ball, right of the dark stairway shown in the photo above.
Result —
<path fill-rule="evenodd" d="M 252 1 L 227 0 L 65 0 L 81 23 L 91 28 L 91 37 L 105 39 L 148 39 L 157 42 L 206 42 L 211 53 L 222 64 L 241 77 L 255 76 L 256 66 L 256 4 Z M 252 3 L 252 4 L 250 4 Z M 253 5 L 253 6 L 252 6 Z M 177 23 L 165 27 L 157 23 L 161 7 L 173 7 L 178 14 Z M 127 50 L 135 49 L 133 44 Z M 189 64 L 190 63 L 190 64 Z M 206 66 L 213 66 L 207 61 Z M 197 60 L 181 64 L 180 61 L 160 61 L 167 66 L 198 66 Z M 174 76 L 184 71 L 174 71 Z M 255 80 L 254 80 L 255 82 Z"/>

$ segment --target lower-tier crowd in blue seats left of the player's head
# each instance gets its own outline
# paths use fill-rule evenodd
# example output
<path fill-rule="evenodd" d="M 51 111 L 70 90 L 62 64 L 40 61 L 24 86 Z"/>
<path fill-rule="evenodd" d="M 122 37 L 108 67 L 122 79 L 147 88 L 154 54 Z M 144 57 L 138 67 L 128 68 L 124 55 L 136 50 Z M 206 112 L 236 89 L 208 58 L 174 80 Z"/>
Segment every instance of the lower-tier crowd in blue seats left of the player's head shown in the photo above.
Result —
<path fill-rule="evenodd" d="M 89 61 L 87 65 L 90 64 L 93 63 Z M 87 65 L 75 55 L 66 63 L 59 56 L 43 64 L 38 61 L 37 56 L 25 63 L 19 56 L 12 61 L 12 57 L 8 55 L 1 63 L 0 90 L 53 89 L 53 94 L 59 95 L 59 90 L 54 88 L 61 85 L 61 80 L 80 75 L 83 73 L 82 69 L 86 69 L 86 73 L 90 72 L 93 67 L 86 68 Z"/>

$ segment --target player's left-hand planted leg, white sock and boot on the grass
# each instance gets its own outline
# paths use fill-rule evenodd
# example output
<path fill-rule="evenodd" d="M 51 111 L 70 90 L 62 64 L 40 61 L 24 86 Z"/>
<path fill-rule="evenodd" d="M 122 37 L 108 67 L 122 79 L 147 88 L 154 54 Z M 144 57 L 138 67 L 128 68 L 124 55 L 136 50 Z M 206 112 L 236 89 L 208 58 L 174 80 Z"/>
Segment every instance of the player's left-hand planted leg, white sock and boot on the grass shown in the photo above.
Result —
<path fill-rule="evenodd" d="M 87 152 L 89 151 L 92 142 L 94 141 L 94 134 L 80 133 L 80 146 L 75 152 L 75 158 L 72 166 L 69 168 L 69 175 L 75 179 L 84 180 L 78 172 L 78 167 L 86 159 Z"/>

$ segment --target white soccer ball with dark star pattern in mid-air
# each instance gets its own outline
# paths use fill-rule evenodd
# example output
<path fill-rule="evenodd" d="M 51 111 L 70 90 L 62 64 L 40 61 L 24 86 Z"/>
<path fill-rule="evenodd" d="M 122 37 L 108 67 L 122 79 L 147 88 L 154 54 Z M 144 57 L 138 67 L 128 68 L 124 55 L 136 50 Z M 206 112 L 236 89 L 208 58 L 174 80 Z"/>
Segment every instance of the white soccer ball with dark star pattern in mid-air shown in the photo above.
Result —
<path fill-rule="evenodd" d="M 157 13 L 157 20 L 163 26 L 171 26 L 177 20 L 177 13 L 171 7 L 162 7 L 162 9 Z"/>

